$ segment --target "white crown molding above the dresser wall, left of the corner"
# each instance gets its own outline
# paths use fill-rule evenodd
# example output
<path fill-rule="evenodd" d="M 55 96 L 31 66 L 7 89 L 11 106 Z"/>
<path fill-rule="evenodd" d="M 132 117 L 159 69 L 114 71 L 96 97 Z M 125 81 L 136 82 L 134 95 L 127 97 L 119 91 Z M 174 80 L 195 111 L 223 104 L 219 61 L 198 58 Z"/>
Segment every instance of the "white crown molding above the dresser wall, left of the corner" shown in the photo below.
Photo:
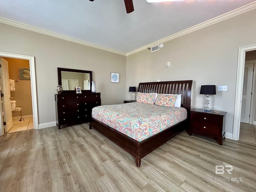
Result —
<path fill-rule="evenodd" d="M 55 33 L 55 32 L 44 30 L 44 29 L 41 29 L 41 28 L 38 28 L 38 27 L 34 27 L 34 26 L 31 26 L 31 25 L 27 25 L 27 24 L 24 24 L 24 23 L 20 23 L 20 22 L 17 22 L 17 21 L 6 19 L 6 18 L 3 18 L 3 17 L 0 17 L 0 23 L 8 24 L 8 25 L 15 26 L 15 27 L 18 27 L 18 28 L 38 32 L 38 33 L 41 33 L 41 34 L 44 34 L 44 35 L 49 35 L 49 36 L 56 37 L 56 38 L 59 38 L 59 39 L 67 40 L 67 41 L 70 41 L 70 42 L 74 42 L 74 43 L 78 43 L 78 44 L 82 44 L 82 45 L 86 45 L 86 46 L 90 46 L 90 47 L 93 47 L 93 48 L 97 48 L 97 49 L 101 49 L 101 50 L 105 50 L 105 51 L 108 51 L 108 52 L 112 52 L 112 53 L 116 53 L 116 54 L 126 56 L 126 53 L 124 53 L 124 52 L 120 52 L 120 51 L 117 51 L 117 50 L 113 50 L 113 49 L 110 49 L 110 48 L 106 48 L 106 47 L 103 47 L 103 46 L 92 44 L 92 43 L 89 43 L 89 42 L 86 42 L 86 41 L 78 40 L 76 38 L 61 35 L 61 34 L 58 34 L 58 33 Z"/>

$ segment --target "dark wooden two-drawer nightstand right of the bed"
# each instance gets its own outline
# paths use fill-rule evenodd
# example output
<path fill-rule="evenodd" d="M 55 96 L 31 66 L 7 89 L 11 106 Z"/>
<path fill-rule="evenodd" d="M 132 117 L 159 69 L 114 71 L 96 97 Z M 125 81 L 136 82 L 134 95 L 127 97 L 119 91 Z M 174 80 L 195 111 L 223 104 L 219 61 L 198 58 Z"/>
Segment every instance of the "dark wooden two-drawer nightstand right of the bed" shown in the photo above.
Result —
<path fill-rule="evenodd" d="M 216 139 L 222 145 L 222 138 L 225 139 L 225 119 L 226 113 L 214 113 L 214 111 L 203 112 L 202 109 L 190 110 L 190 131 L 209 138 Z"/>

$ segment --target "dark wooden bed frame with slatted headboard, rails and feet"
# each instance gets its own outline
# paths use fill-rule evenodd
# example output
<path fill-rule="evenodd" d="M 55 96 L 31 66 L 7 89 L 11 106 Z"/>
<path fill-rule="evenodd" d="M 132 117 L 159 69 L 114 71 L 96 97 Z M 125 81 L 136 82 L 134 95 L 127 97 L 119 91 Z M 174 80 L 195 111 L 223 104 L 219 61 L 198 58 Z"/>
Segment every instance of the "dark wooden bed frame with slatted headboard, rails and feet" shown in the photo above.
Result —
<path fill-rule="evenodd" d="M 136 166 L 140 167 L 141 158 L 170 140 L 185 129 L 189 129 L 190 122 L 190 96 L 192 80 L 188 81 L 166 81 L 140 83 L 138 92 L 162 93 L 162 94 L 182 94 L 182 107 L 187 109 L 188 118 L 166 130 L 138 142 L 125 134 L 107 126 L 106 124 L 92 118 L 90 129 L 95 128 L 98 132 L 118 144 L 124 150 L 136 158 Z"/>

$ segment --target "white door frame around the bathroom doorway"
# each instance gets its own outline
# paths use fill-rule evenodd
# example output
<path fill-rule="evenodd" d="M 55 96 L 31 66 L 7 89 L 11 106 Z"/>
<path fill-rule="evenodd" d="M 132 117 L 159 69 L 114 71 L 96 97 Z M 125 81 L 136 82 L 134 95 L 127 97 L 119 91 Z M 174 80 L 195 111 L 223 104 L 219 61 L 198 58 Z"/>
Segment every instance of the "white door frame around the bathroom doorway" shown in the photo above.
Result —
<path fill-rule="evenodd" d="M 37 97 L 36 97 L 36 71 L 35 71 L 34 57 L 28 56 L 28 55 L 15 54 L 15 53 L 1 52 L 1 51 L 0 51 L 0 57 L 10 57 L 10 58 L 16 58 L 16 59 L 29 60 L 34 129 L 38 129 L 38 112 L 37 112 Z M 2 111 L 0 111 L 0 115 L 2 116 Z M 2 127 L 2 129 L 3 129 L 3 127 Z M 1 130 L 0 130 L 0 133 L 1 133 Z"/>

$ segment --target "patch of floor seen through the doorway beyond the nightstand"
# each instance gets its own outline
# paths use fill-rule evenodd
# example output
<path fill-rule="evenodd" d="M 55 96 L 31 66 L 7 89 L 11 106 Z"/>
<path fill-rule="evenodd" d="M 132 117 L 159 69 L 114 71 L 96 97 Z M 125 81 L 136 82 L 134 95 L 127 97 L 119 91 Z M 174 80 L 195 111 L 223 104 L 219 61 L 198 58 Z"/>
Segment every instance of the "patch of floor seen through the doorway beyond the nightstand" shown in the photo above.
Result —
<path fill-rule="evenodd" d="M 241 123 L 239 140 L 256 144 L 256 126 L 251 124 Z"/>

